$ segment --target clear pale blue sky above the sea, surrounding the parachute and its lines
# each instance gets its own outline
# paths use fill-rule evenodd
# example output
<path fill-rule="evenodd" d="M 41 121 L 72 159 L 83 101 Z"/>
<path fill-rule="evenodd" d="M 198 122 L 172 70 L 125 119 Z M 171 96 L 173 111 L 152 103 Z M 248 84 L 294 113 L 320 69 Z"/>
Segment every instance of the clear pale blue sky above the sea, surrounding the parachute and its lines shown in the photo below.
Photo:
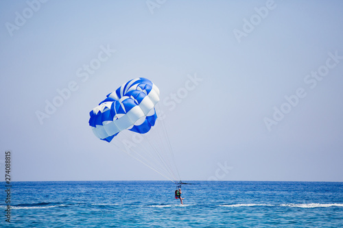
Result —
<path fill-rule="evenodd" d="M 342 10 L 1 1 L 1 170 L 10 150 L 14 181 L 165 180 L 88 125 L 108 93 L 145 77 L 182 180 L 343 181 Z"/>

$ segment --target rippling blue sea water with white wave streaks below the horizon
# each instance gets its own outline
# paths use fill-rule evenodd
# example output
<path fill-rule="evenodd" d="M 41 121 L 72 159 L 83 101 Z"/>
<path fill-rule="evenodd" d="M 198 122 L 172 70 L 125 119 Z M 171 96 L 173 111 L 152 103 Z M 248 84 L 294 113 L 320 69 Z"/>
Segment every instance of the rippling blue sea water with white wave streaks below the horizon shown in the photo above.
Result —
<path fill-rule="evenodd" d="M 343 227 L 342 182 L 189 182 L 184 205 L 171 181 L 12 182 L 0 226 Z"/>

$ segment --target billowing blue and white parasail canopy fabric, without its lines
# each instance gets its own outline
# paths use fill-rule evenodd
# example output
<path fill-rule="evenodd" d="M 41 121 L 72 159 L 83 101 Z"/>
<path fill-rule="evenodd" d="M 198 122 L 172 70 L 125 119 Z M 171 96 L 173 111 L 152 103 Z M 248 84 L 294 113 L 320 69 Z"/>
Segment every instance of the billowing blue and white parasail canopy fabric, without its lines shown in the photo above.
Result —
<path fill-rule="evenodd" d="M 159 96 L 152 81 L 143 77 L 132 79 L 93 108 L 89 125 L 97 138 L 107 142 L 125 129 L 147 133 L 155 125 Z"/>

